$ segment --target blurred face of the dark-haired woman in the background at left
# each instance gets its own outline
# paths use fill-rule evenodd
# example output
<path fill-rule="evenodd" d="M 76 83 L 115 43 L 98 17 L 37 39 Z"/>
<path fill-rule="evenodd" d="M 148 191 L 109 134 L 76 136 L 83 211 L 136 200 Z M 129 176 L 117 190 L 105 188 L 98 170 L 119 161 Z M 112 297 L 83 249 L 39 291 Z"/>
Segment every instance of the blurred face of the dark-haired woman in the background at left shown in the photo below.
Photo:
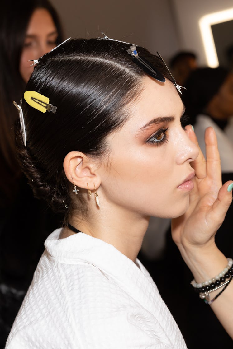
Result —
<path fill-rule="evenodd" d="M 38 59 L 56 46 L 57 28 L 48 10 L 36 9 L 31 16 L 20 58 L 20 74 L 27 83 L 34 67 L 29 59 Z"/>

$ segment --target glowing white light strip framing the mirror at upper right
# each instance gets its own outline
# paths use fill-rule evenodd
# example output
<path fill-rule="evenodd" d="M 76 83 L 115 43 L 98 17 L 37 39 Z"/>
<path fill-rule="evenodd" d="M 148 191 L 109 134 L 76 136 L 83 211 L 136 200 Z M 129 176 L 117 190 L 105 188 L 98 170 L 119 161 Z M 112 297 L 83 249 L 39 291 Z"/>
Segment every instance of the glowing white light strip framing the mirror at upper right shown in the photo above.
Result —
<path fill-rule="evenodd" d="M 217 68 L 219 66 L 211 25 L 231 20 L 233 20 L 233 8 L 205 15 L 199 20 L 207 64 L 211 68 Z"/>

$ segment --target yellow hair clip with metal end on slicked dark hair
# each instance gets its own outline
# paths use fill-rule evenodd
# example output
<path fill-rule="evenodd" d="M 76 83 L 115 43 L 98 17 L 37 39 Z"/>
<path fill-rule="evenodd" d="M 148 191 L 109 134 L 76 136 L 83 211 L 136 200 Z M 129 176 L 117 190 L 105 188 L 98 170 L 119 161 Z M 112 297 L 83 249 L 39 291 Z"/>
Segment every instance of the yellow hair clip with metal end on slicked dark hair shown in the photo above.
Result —
<path fill-rule="evenodd" d="M 49 103 L 49 98 L 36 91 L 26 91 L 23 95 L 25 101 L 33 108 L 45 113 L 46 111 L 56 113 L 57 107 Z"/>

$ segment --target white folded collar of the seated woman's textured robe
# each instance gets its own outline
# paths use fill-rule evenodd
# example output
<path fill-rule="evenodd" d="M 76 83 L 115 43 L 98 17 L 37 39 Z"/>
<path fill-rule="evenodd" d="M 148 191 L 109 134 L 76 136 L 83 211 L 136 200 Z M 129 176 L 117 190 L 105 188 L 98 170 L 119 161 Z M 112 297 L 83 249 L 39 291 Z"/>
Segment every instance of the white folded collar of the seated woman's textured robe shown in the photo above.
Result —
<path fill-rule="evenodd" d="M 85 233 L 81 232 L 59 239 L 60 232 L 61 228 L 55 230 L 45 241 L 45 249 L 51 260 L 58 263 L 92 264 L 110 279 L 116 280 L 122 289 L 145 307 L 150 304 L 151 308 L 153 295 L 158 295 L 158 289 L 138 259 L 136 259 L 137 266 L 114 246 Z M 143 295 L 138 287 L 138 280 L 142 278 L 146 290 Z"/>

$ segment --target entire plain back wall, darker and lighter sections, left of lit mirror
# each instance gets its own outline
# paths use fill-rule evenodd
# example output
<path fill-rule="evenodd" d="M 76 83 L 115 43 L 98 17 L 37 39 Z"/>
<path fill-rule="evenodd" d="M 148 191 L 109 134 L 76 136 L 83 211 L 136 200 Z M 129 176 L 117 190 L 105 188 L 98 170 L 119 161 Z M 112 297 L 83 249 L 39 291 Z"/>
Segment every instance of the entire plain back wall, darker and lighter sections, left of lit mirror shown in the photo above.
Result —
<path fill-rule="evenodd" d="M 198 21 L 233 7 L 233 0 L 51 0 L 64 23 L 65 37 L 107 36 L 147 47 L 168 59 L 178 50 L 206 57 Z"/>

